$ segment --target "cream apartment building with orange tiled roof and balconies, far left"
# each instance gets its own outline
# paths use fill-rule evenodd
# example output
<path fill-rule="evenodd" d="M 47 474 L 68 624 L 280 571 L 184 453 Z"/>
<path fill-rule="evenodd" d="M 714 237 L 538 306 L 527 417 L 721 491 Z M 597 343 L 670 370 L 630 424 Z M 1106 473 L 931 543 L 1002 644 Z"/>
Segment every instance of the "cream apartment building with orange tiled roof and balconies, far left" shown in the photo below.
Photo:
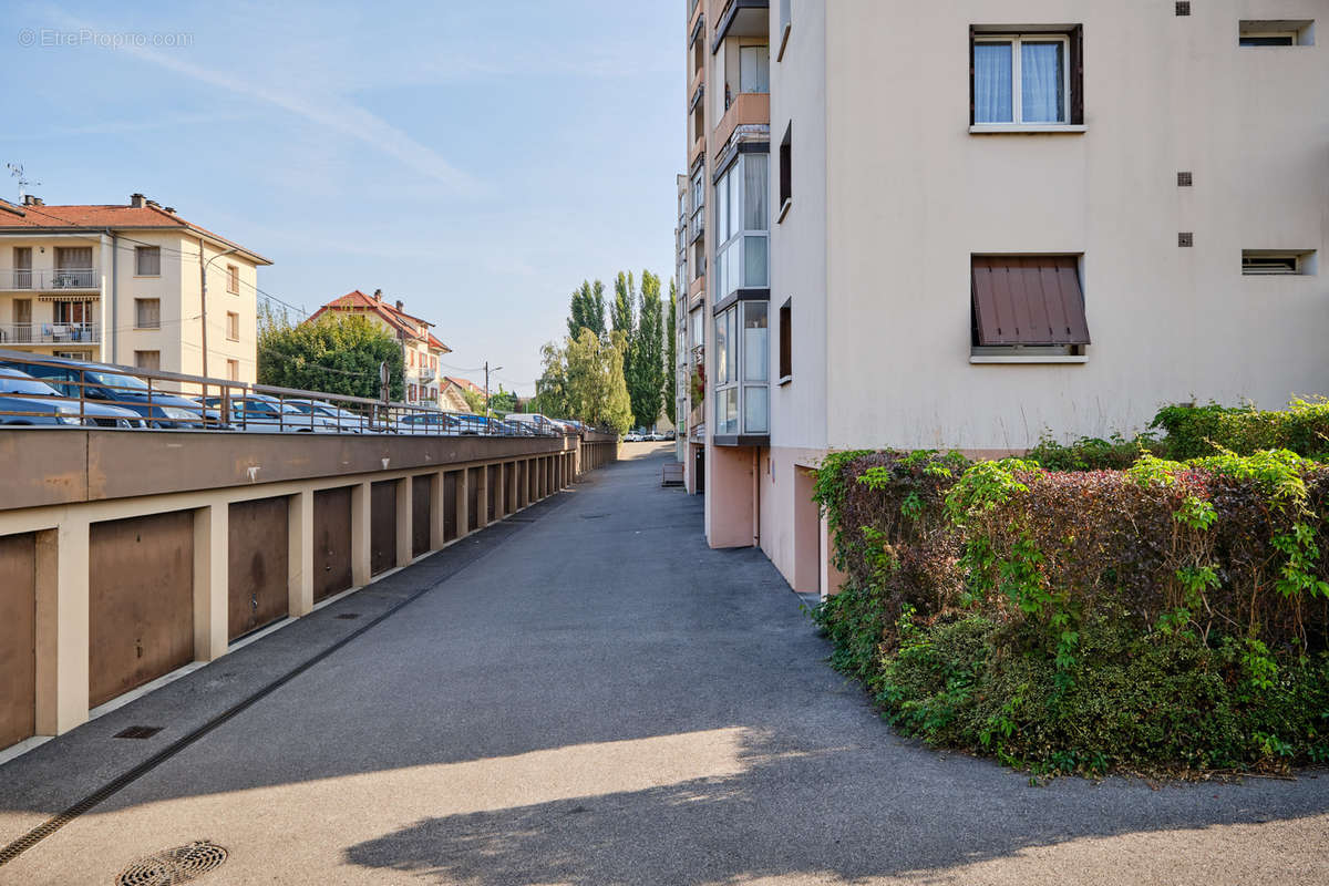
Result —
<path fill-rule="evenodd" d="M 0 348 L 254 381 L 264 264 L 142 194 L 0 201 Z"/>

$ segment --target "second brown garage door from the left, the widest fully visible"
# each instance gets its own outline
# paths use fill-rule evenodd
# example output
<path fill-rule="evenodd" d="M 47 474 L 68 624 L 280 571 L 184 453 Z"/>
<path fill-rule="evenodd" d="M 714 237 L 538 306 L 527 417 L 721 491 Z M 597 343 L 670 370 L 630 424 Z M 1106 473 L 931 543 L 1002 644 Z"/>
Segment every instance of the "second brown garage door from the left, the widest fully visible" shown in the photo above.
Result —
<path fill-rule="evenodd" d="M 93 523 L 88 704 L 194 660 L 194 514 Z"/>

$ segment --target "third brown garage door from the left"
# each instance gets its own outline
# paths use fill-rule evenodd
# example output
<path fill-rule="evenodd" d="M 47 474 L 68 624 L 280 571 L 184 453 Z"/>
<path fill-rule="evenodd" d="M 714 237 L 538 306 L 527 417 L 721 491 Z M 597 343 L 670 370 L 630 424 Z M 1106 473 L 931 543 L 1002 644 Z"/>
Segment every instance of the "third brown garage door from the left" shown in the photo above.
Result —
<path fill-rule="evenodd" d="M 235 639 L 287 615 L 286 498 L 237 502 L 230 507 L 230 619 Z"/>

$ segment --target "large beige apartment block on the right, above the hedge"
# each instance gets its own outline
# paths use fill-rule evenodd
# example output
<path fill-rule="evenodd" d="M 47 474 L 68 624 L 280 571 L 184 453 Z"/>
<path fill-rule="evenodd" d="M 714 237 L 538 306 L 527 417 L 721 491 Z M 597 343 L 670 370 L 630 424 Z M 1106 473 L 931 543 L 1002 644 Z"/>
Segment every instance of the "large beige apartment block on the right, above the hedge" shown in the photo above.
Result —
<path fill-rule="evenodd" d="M 679 400 L 712 546 L 833 591 L 827 452 L 1329 389 L 1329 1 L 686 9 Z"/>

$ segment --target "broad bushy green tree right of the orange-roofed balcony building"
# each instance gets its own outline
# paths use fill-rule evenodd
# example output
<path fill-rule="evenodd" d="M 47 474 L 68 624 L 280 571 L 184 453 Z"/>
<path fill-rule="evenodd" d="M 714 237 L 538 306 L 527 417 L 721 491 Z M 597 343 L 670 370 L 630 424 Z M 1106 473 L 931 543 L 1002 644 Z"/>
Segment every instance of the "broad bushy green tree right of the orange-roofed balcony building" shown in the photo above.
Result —
<path fill-rule="evenodd" d="M 330 311 L 291 325 L 284 313 L 259 317 L 258 381 L 351 397 L 381 397 L 379 365 L 388 364 L 388 396 L 405 393 L 401 343 L 356 313 Z"/>

